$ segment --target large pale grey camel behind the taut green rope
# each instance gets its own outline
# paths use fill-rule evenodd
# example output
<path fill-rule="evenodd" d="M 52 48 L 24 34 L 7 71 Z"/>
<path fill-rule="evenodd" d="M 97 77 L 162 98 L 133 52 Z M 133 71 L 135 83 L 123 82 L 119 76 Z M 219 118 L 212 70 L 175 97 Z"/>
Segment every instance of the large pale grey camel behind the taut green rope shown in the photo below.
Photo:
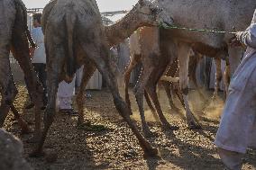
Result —
<path fill-rule="evenodd" d="M 217 0 L 215 2 L 204 0 L 156 0 L 160 7 L 167 10 L 177 25 L 187 28 L 199 29 L 218 29 L 224 31 L 242 31 L 251 22 L 251 15 L 254 12 L 256 2 L 250 1 L 229 1 Z M 209 5 L 211 4 L 211 5 Z M 221 7 L 220 7 L 221 6 Z M 198 9 L 198 10 L 197 10 Z M 202 10 L 204 9 L 204 10 Z M 215 16 L 214 18 L 208 16 Z M 222 49 L 224 44 L 228 44 L 232 35 L 223 33 L 209 33 L 197 31 L 181 30 L 160 30 L 160 41 L 173 44 L 176 42 L 178 64 L 179 64 L 179 85 L 186 106 L 187 123 L 191 127 L 197 127 L 194 116 L 189 109 L 188 104 L 188 56 L 189 50 L 193 44 L 204 44 L 211 48 Z M 159 38 L 158 38 L 159 39 Z M 169 42 L 170 41 L 170 42 Z M 166 45 L 167 46 L 167 45 Z M 230 73 L 233 74 L 235 68 L 239 65 L 242 48 L 228 45 L 228 54 L 230 56 Z M 150 67 L 147 67 L 142 73 L 142 83 L 140 87 L 145 86 L 145 80 L 151 75 Z M 142 92 L 142 88 L 141 88 Z"/>

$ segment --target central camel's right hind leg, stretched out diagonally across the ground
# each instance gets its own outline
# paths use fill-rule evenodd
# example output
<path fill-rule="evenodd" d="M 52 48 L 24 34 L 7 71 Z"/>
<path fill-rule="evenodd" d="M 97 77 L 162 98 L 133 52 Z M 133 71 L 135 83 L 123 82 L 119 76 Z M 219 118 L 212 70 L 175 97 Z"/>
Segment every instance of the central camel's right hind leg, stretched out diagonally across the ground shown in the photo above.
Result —
<path fill-rule="evenodd" d="M 98 42 L 101 41 L 104 40 L 98 38 Z M 98 44 L 98 47 L 103 47 L 98 48 L 95 46 L 95 44 L 91 43 L 84 43 L 82 47 L 87 52 L 87 57 L 94 60 L 94 63 L 96 63 L 96 67 L 105 78 L 106 84 L 108 85 L 113 95 L 115 108 L 121 114 L 123 120 L 126 121 L 129 127 L 133 130 L 133 134 L 139 140 L 139 144 L 144 151 L 145 157 L 156 156 L 158 154 L 157 149 L 152 148 L 149 141 L 144 139 L 140 131 L 136 128 L 136 125 L 130 118 L 130 110 L 119 94 L 116 76 L 114 76 L 114 73 L 112 73 L 111 66 L 108 63 L 106 56 L 103 56 L 108 54 L 108 49 L 103 44 Z"/>

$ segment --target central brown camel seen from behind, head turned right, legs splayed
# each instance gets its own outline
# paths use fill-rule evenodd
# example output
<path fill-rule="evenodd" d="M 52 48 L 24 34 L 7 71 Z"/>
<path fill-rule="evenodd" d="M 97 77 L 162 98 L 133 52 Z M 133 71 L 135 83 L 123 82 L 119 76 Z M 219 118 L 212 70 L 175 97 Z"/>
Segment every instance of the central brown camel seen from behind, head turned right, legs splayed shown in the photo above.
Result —
<path fill-rule="evenodd" d="M 145 156 L 155 156 L 157 154 L 157 149 L 152 148 L 151 144 L 144 139 L 130 118 L 131 111 L 118 92 L 116 77 L 110 64 L 111 58 L 108 51 L 111 46 L 125 40 L 140 26 L 160 24 L 160 22 L 163 22 L 161 17 L 167 18 L 165 22 L 172 23 L 168 15 L 161 16 L 161 14 L 164 13 L 158 6 L 151 4 L 147 0 L 140 0 L 133 7 L 133 10 L 126 14 L 123 20 L 112 26 L 104 27 L 96 1 L 58 0 L 46 6 L 43 12 L 42 27 L 45 34 L 48 61 L 49 101 L 45 110 L 44 130 L 41 135 L 41 141 L 32 156 L 41 155 L 43 143 L 53 122 L 59 81 L 70 82 L 76 69 L 82 65 L 85 65 L 85 67 L 81 89 L 77 98 L 78 124 L 82 124 L 84 121 L 84 88 L 97 67 L 113 94 L 116 109 L 133 130 Z M 59 28 L 61 28 L 60 31 Z M 67 47 L 67 50 L 65 47 Z"/>

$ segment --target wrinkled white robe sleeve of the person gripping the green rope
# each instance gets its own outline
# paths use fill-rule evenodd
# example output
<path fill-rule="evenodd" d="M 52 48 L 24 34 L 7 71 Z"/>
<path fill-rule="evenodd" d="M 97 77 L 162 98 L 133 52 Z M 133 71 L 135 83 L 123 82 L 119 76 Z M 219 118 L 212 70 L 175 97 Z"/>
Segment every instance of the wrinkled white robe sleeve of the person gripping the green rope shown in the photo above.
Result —
<path fill-rule="evenodd" d="M 242 31 L 238 39 L 246 46 L 256 49 L 256 23 L 251 24 L 246 31 Z"/>

